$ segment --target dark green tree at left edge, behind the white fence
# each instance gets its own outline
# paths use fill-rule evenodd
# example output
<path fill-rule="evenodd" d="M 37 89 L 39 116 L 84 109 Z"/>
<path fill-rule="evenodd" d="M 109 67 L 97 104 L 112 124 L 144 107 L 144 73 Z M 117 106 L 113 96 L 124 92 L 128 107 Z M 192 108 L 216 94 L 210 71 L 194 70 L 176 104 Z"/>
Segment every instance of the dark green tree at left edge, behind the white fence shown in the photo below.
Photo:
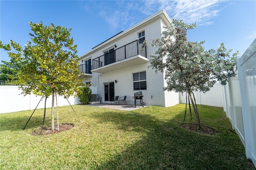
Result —
<path fill-rule="evenodd" d="M 0 65 L 0 84 L 13 83 L 18 80 L 17 74 L 22 64 L 16 62 L 13 58 L 10 61 L 2 60 L 2 63 Z"/>

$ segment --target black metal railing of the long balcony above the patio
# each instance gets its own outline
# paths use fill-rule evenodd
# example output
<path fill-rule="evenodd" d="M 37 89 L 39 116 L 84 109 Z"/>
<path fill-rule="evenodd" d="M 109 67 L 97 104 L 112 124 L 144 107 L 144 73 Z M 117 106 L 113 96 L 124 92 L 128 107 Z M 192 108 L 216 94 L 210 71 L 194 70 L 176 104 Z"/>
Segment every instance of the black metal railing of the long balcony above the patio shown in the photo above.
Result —
<path fill-rule="evenodd" d="M 121 61 L 135 55 L 141 55 L 143 57 L 147 57 L 146 55 L 146 47 L 144 51 L 142 51 L 143 43 L 136 40 L 134 42 L 128 43 L 114 51 L 109 53 L 105 53 L 100 57 L 97 57 L 92 60 L 93 69 L 97 69 L 99 67 L 103 67 L 105 65 L 115 63 L 117 61 Z"/>

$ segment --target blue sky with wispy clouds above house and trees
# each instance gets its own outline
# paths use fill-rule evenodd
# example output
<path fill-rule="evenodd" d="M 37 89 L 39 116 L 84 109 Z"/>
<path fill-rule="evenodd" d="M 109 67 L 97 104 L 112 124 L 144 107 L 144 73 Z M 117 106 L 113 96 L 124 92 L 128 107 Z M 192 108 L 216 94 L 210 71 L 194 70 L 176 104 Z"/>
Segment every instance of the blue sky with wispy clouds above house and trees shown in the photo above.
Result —
<path fill-rule="evenodd" d="M 20 43 L 30 40 L 28 22 L 72 28 L 71 36 L 82 55 L 164 8 L 169 17 L 187 24 L 197 23 L 188 32 L 189 41 L 205 40 L 206 49 L 246 51 L 256 38 L 255 0 L 178 0 L 178 1 L 12 1 L 0 0 L 0 40 Z M 1 49 L 0 60 L 9 57 Z"/>

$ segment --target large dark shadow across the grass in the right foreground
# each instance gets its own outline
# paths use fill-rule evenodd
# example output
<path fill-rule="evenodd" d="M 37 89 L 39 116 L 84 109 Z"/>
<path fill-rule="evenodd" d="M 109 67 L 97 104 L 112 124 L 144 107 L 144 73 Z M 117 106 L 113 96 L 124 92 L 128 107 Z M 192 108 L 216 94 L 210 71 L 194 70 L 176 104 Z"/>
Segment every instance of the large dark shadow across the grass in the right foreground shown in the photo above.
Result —
<path fill-rule="evenodd" d="M 180 117 L 177 115 L 174 119 Z M 102 113 L 96 118 L 98 123 L 114 123 L 120 130 L 146 133 L 108 162 L 102 162 L 98 166 L 99 169 L 198 170 L 253 169 L 254 167 L 251 161 L 246 160 L 243 147 L 240 147 L 242 150 L 232 148 L 234 144 L 230 143 L 236 141 L 223 143 L 223 141 L 219 142 L 220 135 L 203 135 L 182 127 L 175 130 L 177 123 L 172 119 L 160 121 L 152 115 L 136 111 L 128 114 L 127 112 L 126 114 Z M 244 159 L 241 159 L 241 154 Z"/>

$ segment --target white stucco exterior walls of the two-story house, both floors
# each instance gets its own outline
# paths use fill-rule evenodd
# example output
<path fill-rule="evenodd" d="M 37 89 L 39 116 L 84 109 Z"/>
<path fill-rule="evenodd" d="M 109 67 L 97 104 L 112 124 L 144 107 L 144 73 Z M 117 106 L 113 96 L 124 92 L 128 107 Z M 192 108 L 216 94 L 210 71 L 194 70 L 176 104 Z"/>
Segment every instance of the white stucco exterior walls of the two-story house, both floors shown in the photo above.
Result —
<path fill-rule="evenodd" d="M 91 58 L 92 60 L 104 54 L 106 49 L 110 47 L 116 48 L 122 47 L 134 40 L 138 39 L 138 33 L 145 31 L 145 38 L 148 40 L 148 47 L 146 48 L 147 58 L 150 59 L 150 55 L 155 55 L 155 51 L 158 47 L 152 47 L 152 40 L 161 37 L 162 27 L 166 25 L 164 20 L 160 16 L 154 17 L 144 24 L 134 27 L 129 32 L 126 32 L 122 36 L 115 38 L 112 42 L 100 45 L 95 48 L 95 50 L 89 51 L 82 57 L 83 60 Z M 121 33 L 122 34 L 122 33 Z M 116 69 L 114 71 L 109 71 L 105 73 L 92 73 L 92 77 L 86 77 L 84 82 L 91 81 L 93 86 L 98 86 L 98 94 L 102 97 L 103 103 L 110 103 L 104 101 L 104 83 L 115 82 L 114 83 L 114 93 L 118 96 L 127 96 L 128 104 L 133 104 L 134 93 L 137 91 L 133 90 L 133 80 L 132 73 L 146 71 L 146 82 L 147 89 L 142 90 L 144 95 L 143 102 L 146 105 L 160 105 L 160 106 L 173 106 L 179 103 L 179 95 L 173 92 L 163 91 L 164 87 L 164 76 L 161 72 L 155 73 L 155 70 L 148 68 L 149 62 L 140 63 L 138 65 L 130 65 L 122 69 Z M 111 66 L 114 67 L 114 66 Z"/>

